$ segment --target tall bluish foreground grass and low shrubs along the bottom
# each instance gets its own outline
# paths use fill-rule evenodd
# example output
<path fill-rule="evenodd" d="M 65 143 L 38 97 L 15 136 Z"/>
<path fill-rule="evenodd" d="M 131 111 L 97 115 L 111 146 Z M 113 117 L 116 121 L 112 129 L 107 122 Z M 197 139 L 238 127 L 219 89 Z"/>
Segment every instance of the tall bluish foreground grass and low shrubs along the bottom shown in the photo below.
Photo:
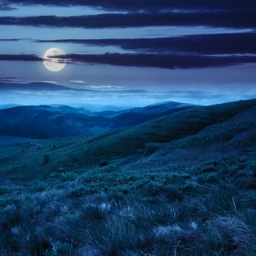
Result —
<path fill-rule="evenodd" d="M 0 255 L 256 255 L 254 159 L 58 170 L 1 187 Z"/>

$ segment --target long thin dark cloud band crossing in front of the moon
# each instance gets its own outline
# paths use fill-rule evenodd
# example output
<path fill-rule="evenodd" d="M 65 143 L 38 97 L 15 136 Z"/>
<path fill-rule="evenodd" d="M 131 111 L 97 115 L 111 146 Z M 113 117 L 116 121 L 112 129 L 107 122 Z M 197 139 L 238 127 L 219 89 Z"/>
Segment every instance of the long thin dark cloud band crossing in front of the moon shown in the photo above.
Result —
<path fill-rule="evenodd" d="M 55 56 L 63 58 L 63 56 Z M 256 56 L 203 56 L 195 54 L 142 54 L 142 53 L 105 53 L 105 54 L 67 54 L 69 63 L 98 63 L 133 67 L 159 67 L 167 69 L 226 67 L 237 64 L 255 63 Z M 39 61 L 31 55 L 0 55 L 5 61 Z"/>

